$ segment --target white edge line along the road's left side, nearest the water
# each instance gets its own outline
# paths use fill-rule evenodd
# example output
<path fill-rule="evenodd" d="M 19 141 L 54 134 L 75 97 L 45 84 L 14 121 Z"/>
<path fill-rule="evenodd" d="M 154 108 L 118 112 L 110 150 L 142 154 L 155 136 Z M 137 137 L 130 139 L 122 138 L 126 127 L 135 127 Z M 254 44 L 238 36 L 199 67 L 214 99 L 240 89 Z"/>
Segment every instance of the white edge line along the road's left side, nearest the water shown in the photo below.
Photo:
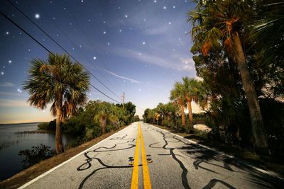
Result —
<path fill-rule="evenodd" d="M 131 125 L 132 125 L 132 124 L 133 124 L 133 123 L 131 123 Z M 130 126 L 130 125 L 129 125 L 129 126 Z M 129 127 L 129 126 L 127 126 L 127 127 Z M 127 127 L 125 127 L 123 130 L 125 130 Z M 115 132 L 114 134 L 119 133 L 119 132 L 121 132 L 121 131 L 123 131 L 123 130 L 119 130 L 118 132 Z M 114 134 L 111 134 L 109 137 L 113 136 Z M 67 161 L 62 162 L 62 163 L 59 164 L 58 166 L 55 166 L 55 167 L 51 168 L 50 170 L 46 171 L 45 173 L 41 174 L 40 176 L 37 176 L 37 177 L 33 178 L 33 180 L 28 181 L 28 183 L 26 183 L 26 184 L 24 184 L 24 185 L 21 185 L 18 189 L 26 188 L 28 185 L 31 185 L 31 184 L 34 183 L 35 181 L 38 181 L 38 179 L 42 178 L 43 176 L 46 176 L 48 173 L 51 173 L 51 172 L 55 171 L 55 169 L 60 168 L 60 166 L 63 166 L 64 164 L 67 164 L 69 161 L 72 161 L 73 159 L 77 158 L 77 156 L 80 156 L 80 155 L 83 154 L 84 152 L 89 151 L 89 149 L 92 149 L 93 147 L 99 145 L 100 143 L 104 142 L 104 140 L 109 139 L 109 137 L 107 137 L 107 138 L 101 140 L 101 141 L 98 142 L 97 144 L 94 144 L 92 147 L 89 147 L 88 149 L 85 149 L 84 151 L 81 151 L 79 154 L 77 154 L 77 155 L 75 155 L 75 156 L 72 156 L 72 158 L 68 159 Z"/>

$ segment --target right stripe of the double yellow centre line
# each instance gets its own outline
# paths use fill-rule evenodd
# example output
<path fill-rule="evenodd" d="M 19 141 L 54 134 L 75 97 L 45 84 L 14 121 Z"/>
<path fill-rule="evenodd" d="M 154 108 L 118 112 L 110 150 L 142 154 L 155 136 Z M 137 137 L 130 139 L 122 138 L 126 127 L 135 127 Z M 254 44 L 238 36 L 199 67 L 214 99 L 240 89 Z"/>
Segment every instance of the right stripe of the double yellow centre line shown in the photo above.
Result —
<path fill-rule="evenodd" d="M 139 124 L 139 126 L 140 126 L 140 124 Z M 141 128 L 140 128 L 140 130 L 141 130 Z M 151 187 L 151 181 L 150 181 L 150 176 L 149 176 L 148 163 L 147 163 L 147 158 L 146 158 L 146 152 L 145 152 L 145 147 L 144 147 L 144 139 L 143 139 L 142 130 L 140 131 L 140 136 L 141 136 L 141 156 L 142 156 L 142 166 L 143 166 L 144 189 L 151 189 L 152 187 Z"/>

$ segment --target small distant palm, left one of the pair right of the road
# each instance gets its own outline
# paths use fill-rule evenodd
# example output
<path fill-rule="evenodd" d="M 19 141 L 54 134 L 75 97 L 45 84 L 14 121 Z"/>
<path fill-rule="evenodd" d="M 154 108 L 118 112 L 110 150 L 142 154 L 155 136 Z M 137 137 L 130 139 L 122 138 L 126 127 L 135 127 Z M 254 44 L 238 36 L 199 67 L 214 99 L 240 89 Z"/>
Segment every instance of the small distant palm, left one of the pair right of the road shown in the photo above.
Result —
<path fill-rule="evenodd" d="M 182 127 L 185 128 L 185 91 L 181 82 L 175 82 L 173 89 L 170 91 L 170 100 L 177 102 L 180 106 Z"/>

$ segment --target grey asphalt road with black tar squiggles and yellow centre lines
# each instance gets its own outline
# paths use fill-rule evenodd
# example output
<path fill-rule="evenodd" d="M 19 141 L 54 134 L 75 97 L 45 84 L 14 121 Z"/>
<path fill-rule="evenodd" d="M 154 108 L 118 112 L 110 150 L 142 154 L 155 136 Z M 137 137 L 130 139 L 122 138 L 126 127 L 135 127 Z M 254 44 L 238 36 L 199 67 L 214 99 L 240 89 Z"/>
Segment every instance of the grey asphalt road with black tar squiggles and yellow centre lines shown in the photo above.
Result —
<path fill-rule="evenodd" d="M 284 185 L 277 176 L 143 122 L 134 122 L 35 180 L 24 186 L 72 189 L 283 188 Z"/>

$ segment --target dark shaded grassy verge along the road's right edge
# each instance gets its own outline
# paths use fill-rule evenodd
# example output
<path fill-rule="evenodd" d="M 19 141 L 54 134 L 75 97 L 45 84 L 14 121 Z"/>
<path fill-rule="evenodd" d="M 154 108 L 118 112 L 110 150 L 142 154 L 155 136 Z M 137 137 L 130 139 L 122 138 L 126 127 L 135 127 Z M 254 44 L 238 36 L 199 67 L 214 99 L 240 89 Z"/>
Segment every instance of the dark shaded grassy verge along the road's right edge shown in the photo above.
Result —
<path fill-rule="evenodd" d="M 197 144 L 203 144 L 207 147 L 218 149 L 219 151 L 223 151 L 226 154 L 233 155 L 240 160 L 248 161 L 249 163 L 258 166 L 259 168 L 278 173 L 278 175 L 284 178 L 284 164 L 282 159 L 273 159 L 270 156 L 259 156 L 258 154 L 254 153 L 253 151 L 249 151 L 248 149 L 242 149 L 240 147 L 231 147 L 224 143 L 199 137 L 195 134 L 187 134 L 185 132 L 171 130 L 169 127 L 164 127 L 160 125 L 154 126 L 178 134 L 180 137 L 184 137 L 185 139 L 190 139 L 194 142 L 197 142 Z"/>

